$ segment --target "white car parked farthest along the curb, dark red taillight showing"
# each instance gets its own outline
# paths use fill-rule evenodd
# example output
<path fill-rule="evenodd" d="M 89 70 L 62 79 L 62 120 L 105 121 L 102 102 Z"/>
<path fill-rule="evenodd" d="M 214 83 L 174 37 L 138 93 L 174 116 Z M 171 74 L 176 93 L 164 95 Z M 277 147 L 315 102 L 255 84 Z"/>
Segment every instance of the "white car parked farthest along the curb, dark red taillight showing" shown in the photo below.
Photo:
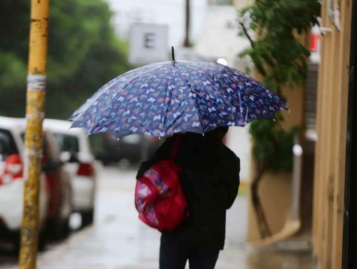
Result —
<path fill-rule="evenodd" d="M 81 128 L 70 129 L 65 120 L 45 119 L 44 130 L 56 136 L 61 159 L 71 176 L 73 211 L 82 215 L 82 225 L 93 222 L 94 198 L 98 163 L 96 162 L 86 132 Z"/>

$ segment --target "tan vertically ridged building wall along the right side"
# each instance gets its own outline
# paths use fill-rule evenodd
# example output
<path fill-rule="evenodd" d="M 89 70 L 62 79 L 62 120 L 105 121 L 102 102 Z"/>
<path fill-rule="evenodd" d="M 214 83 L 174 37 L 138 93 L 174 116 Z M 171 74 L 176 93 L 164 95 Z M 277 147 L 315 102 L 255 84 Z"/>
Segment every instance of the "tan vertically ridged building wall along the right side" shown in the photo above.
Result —
<path fill-rule="evenodd" d="M 342 259 L 343 199 L 347 129 L 348 65 L 351 0 L 339 4 L 340 31 L 328 17 L 322 1 L 323 27 L 331 28 L 321 40 L 313 199 L 313 254 L 318 268 L 339 269 Z"/>

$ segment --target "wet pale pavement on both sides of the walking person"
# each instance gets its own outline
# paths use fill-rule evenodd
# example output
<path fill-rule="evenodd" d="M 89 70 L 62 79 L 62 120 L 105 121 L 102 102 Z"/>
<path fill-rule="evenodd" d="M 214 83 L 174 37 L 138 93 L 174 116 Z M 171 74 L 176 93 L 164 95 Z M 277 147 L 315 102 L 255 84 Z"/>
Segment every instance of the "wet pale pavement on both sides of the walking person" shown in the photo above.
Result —
<path fill-rule="evenodd" d="M 50 244 L 39 254 L 38 268 L 157 269 L 160 234 L 137 219 L 134 176 L 133 169 L 104 168 L 98 182 L 95 224 Z M 245 247 L 246 205 L 246 197 L 238 196 L 227 212 L 226 244 L 217 269 L 311 268 L 309 252 Z M 5 268 L 17 268 L 14 258 L 0 257 L 0 269 Z"/>

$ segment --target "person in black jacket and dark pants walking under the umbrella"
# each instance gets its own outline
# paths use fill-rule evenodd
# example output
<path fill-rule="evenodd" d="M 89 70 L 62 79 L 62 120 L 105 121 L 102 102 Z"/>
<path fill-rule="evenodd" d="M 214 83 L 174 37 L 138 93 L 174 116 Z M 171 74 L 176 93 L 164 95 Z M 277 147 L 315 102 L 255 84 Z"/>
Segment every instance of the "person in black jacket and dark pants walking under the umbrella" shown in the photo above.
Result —
<path fill-rule="evenodd" d="M 213 269 L 224 246 L 225 212 L 239 187 L 240 159 L 223 143 L 228 127 L 204 134 L 181 134 L 178 155 L 179 179 L 189 217 L 173 230 L 161 232 L 160 269 Z M 153 164 L 170 157 L 177 135 L 159 147 L 141 164 L 136 178 L 143 177 Z"/>

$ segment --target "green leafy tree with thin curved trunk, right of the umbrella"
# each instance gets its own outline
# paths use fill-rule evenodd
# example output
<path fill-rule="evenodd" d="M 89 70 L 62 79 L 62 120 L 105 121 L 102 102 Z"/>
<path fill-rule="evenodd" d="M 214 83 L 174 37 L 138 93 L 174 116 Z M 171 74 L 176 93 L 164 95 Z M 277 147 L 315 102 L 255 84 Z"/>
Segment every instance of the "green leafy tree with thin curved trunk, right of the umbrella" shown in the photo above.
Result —
<path fill-rule="evenodd" d="M 318 0 L 255 0 L 254 4 L 239 11 L 239 34 L 251 46 L 240 57 L 249 57 L 264 84 L 282 99 L 282 86 L 303 85 L 306 79 L 306 60 L 310 55 L 296 36 L 308 33 L 318 24 Z M 249 132 L 253 141 L 252 154 L 256 160 L 256 173 L 251 183 L 252 203 L 262 238 L 271 235 L 267 218 L 258 195 L 258 186 L 266 171 L 290 171 L 292 146 L 298 128 L 282 128 L 282 113 L 275 121 L 256 120 Z"/>

